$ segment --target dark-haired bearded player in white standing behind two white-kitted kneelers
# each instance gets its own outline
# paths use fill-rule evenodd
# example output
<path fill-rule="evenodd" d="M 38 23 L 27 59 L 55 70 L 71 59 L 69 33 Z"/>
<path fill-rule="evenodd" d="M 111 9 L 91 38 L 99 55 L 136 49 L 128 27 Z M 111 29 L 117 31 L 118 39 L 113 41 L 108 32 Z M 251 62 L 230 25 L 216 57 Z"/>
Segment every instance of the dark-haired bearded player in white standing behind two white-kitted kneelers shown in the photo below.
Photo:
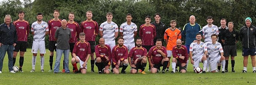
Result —
<path fill-rule="evenodd" d="M 218 27 L 212 24 L 213 18 L 211 16 L 208 16 L 206 21 L 208 24 L 202 28 L 204 43 L 211 41 L 212 34 L 216 34 L 217 37 L 219 35 Z M 209 57 L 208 57 L 208 55 L 206 57 L 207 57 L 206 72 L 209 72 L 209 70 L 210 70 L 209 69 Z M 218 68 L 221 69 L 220 65 L 218 65 Z M 219 72 L 219 70 L 217 70 L 217 72 Z"/>

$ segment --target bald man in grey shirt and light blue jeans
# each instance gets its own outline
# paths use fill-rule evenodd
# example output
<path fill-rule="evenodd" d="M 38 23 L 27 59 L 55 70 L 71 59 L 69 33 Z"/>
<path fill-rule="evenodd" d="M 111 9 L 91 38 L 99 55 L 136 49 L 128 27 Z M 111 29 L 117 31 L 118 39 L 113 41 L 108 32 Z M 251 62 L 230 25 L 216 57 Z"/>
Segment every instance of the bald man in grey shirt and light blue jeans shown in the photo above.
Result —
<path fill-rule="evenodd" d="M 54 39 L 57 41 L 56 46 L 56 62 L 54 65 L 54 73 L 58 73 L 60 69 L 60 59 L 62 53 L 64 54 L 65 73 L 70 73 L 68 68 L 69 56 L 69 39 L 71 38 L 71 31 L 67 26 L 67 20 L 61 21 L 61 27 L 55 32 Z"/>

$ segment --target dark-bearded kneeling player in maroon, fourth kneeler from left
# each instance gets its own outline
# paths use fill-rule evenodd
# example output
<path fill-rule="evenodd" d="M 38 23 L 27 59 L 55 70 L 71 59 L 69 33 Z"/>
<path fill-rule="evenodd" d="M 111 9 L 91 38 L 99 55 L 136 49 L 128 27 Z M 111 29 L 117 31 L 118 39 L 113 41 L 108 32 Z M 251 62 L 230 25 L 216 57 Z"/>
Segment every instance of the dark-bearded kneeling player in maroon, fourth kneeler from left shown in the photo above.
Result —
<path fill-rule="evenodd" d="M 147 65 L 147 49 L 141 46 L 142 39 L 136 39 L 136 47 L 133 47 L 128 55 L 128 61 L 131 66 L 131 74 L 135 74 L 138 72 L 138 69 L 141 69 L 142 74 L 146 74 L 144 72 L 145 67 Z M 132 61 L 131 61 L 132 60 Z"/>

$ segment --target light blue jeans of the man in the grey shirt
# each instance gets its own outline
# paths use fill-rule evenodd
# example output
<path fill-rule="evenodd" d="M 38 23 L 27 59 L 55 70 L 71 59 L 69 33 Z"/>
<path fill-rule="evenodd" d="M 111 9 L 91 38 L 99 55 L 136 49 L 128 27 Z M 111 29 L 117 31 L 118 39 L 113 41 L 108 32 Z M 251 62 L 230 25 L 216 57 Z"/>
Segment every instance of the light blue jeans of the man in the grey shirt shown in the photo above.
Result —
<path fill-rule="evenodd" d="M 68 72 L 70 72 L 70 70 L 68 68 L 69 49 L 67 49 L 67 50 L 56 49 L 56 62 L 55 62 L 53 71 L 57 72 L 57 73 L 59 72 L 59 69 L 60 69 L 60 59 L 61 59 L 62 53 L 64 54 L 65 73 L 68 73 Z"/>

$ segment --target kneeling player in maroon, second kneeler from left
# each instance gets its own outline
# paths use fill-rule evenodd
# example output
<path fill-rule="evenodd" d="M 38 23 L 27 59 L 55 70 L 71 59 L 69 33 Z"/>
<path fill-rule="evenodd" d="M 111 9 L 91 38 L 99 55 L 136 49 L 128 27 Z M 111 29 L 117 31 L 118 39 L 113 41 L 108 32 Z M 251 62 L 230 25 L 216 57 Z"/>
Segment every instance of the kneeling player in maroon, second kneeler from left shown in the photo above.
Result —
<path fill-rule="evenodd" d="M 110 61 L 111 61 L 111 49 L 109 45 L 105 44 L 104 38 L 99 39 L 99 45 L 95 46 L 96 62 L 95 65 L 98 67 L 99 74 L 110 73 Z"/>

